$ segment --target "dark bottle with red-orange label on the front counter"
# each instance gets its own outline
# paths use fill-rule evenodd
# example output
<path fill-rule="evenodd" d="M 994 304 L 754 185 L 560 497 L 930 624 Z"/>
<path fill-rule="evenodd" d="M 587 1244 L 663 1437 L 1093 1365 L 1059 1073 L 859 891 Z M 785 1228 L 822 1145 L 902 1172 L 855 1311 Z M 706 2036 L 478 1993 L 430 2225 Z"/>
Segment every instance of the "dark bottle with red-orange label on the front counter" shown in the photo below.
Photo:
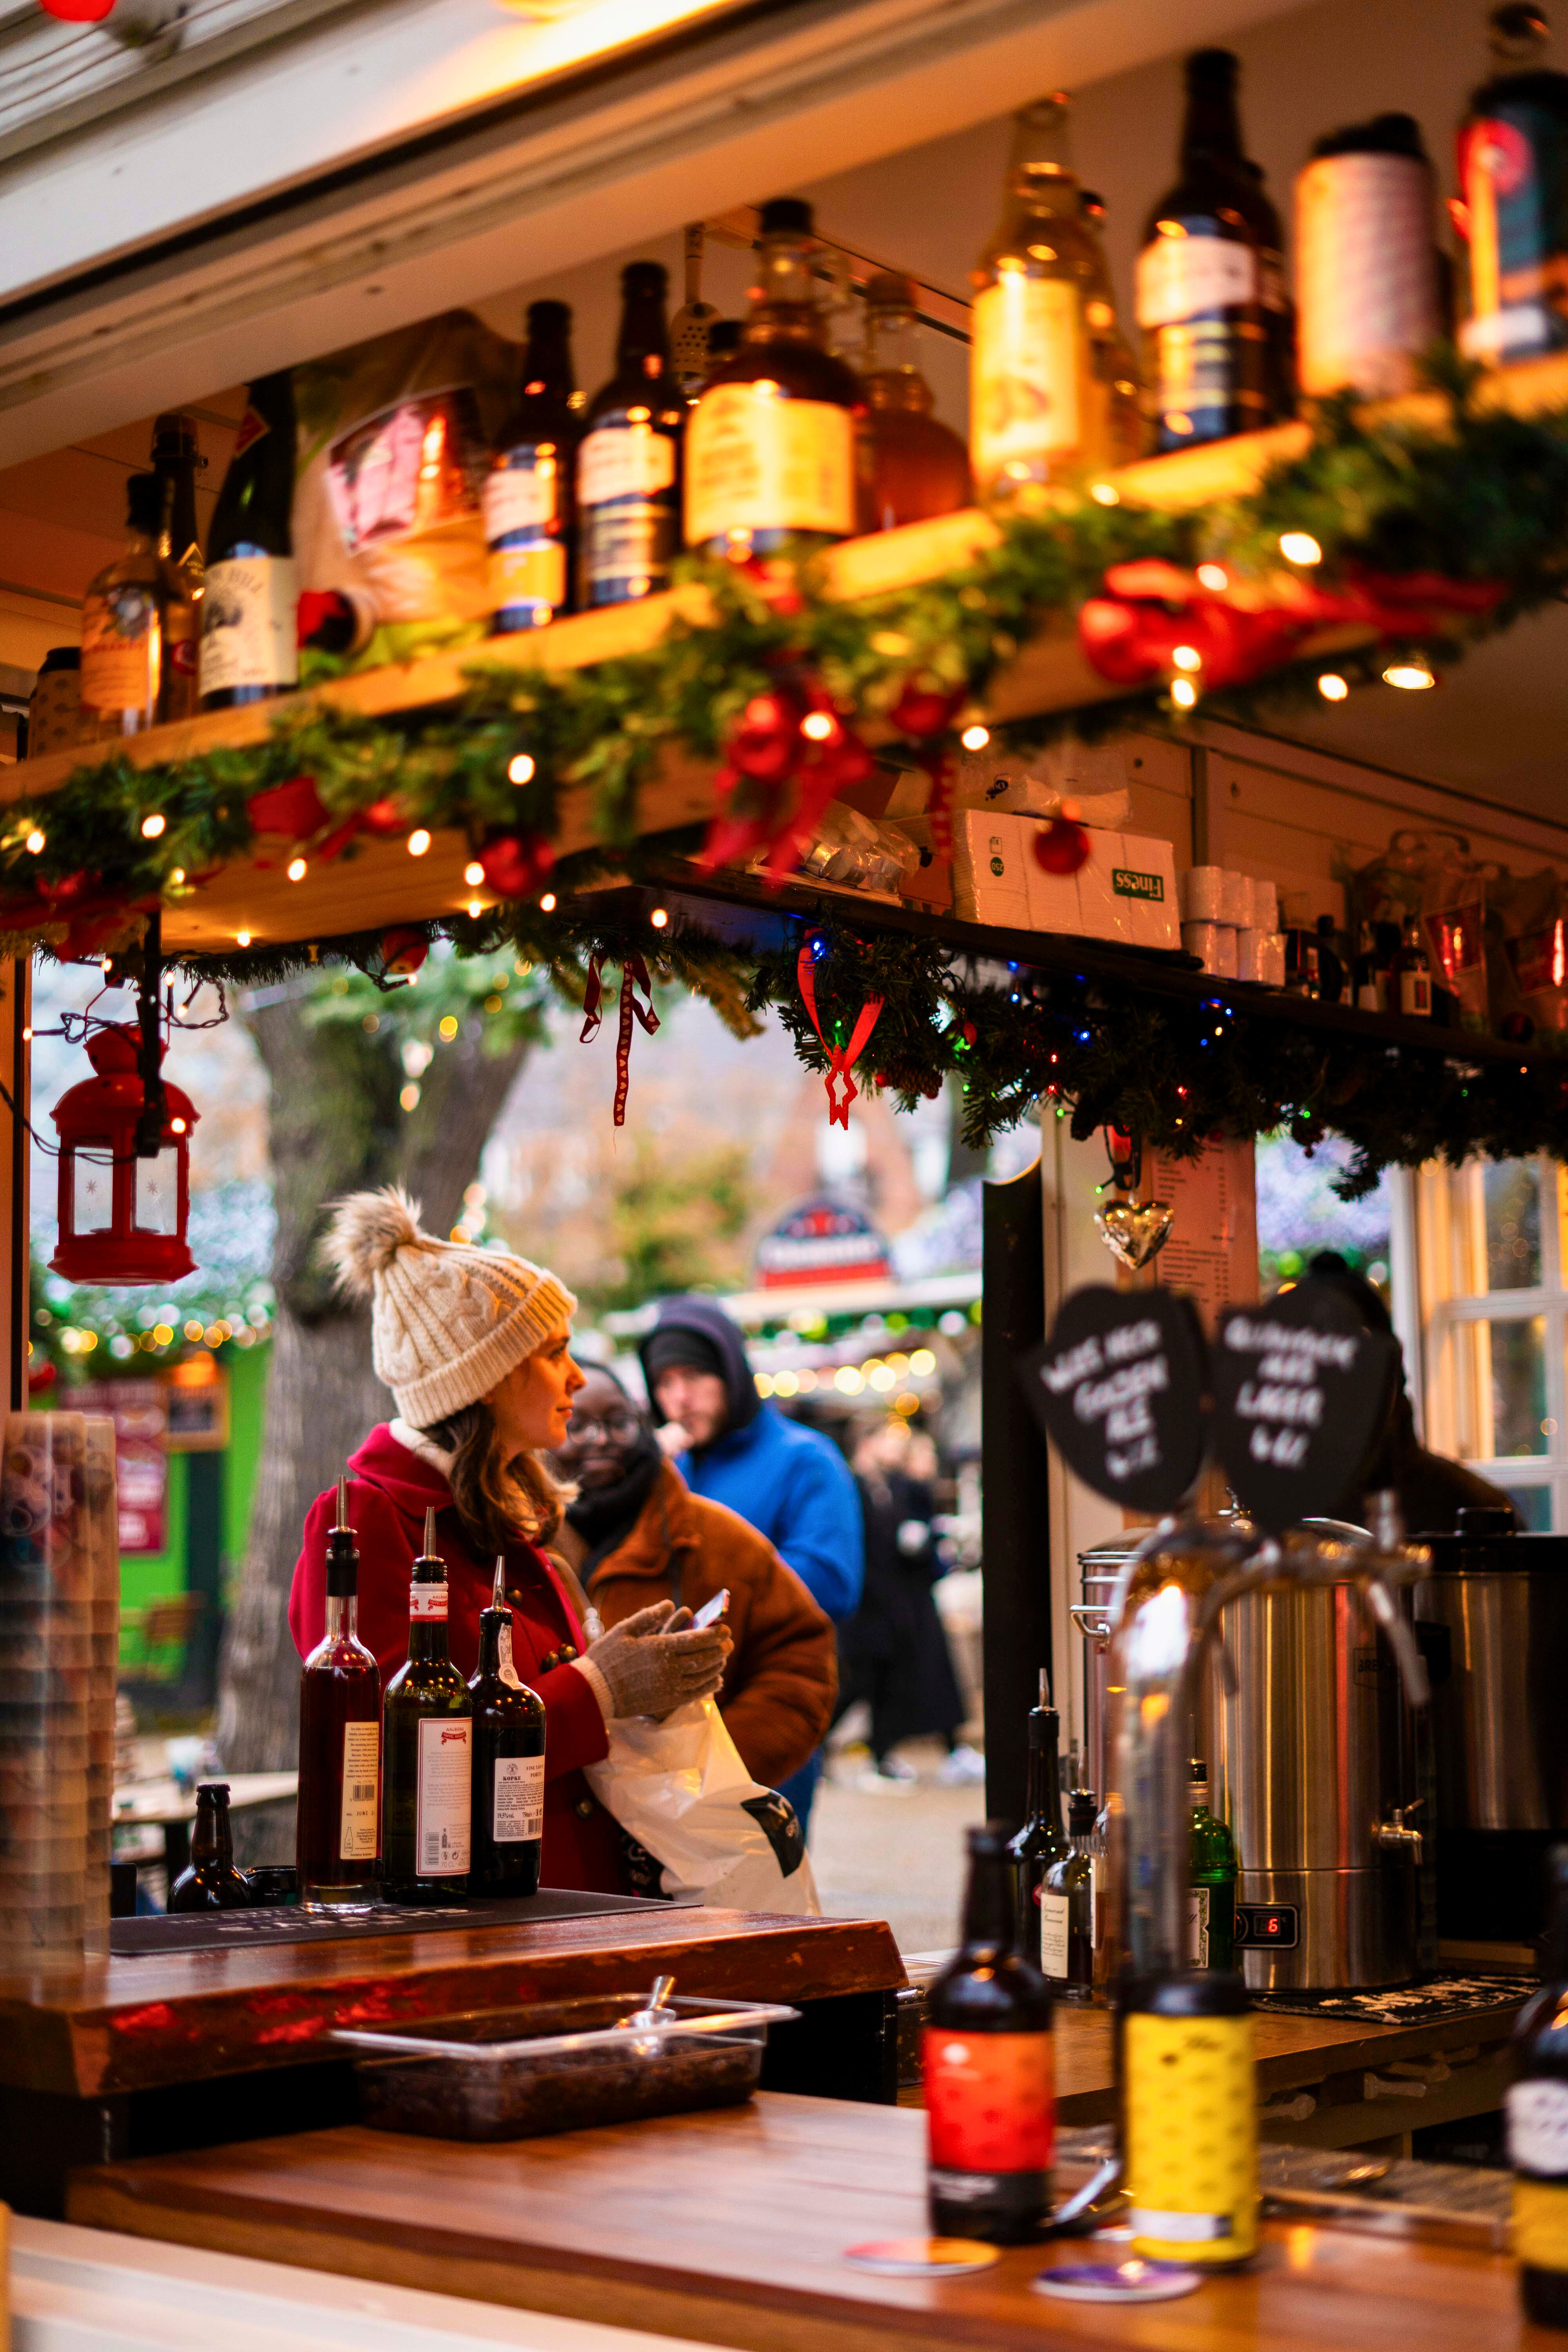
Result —
<path fill-rule="evenodd" d="M 1004 1823 L 969 1830 L 964 1938 L 926 1992 L 922 2058 L 933 2232 L 1025 2244 L 1051 2209 L 1051 1987 L 1013 1947 Z"/>

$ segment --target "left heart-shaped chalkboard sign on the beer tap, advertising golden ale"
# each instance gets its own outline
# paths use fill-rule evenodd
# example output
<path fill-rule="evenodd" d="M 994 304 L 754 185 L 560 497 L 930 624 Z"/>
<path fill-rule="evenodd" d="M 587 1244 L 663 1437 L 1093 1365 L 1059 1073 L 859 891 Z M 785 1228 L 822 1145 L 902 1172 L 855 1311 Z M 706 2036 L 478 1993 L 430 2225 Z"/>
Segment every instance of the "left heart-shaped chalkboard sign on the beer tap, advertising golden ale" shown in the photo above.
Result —
<path fill-rule="evenodd" d="M 1072 1291 L 1020 1359 L 1025 1392 L 1070 1470 L 1131 1510 L 1175 1510 L 1204 1463 L 1208 1352 L 1175 1291 Z"/>

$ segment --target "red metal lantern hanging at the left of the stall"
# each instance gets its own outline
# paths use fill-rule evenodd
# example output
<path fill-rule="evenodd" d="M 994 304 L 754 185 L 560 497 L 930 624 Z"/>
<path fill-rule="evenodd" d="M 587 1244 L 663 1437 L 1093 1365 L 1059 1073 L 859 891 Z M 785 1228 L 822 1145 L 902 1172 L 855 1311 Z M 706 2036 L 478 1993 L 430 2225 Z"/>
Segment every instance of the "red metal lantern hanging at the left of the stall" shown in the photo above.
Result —
<path fill-rule="evenodd" d="M 195 1272 L 186 1223 L 197 1110 L 181 1087 L 165 1084 L 158 1152 L 139 1160 L 139 1054 L 134 1028 L 92 1030 L 87 1061 L 96 1075 L 49 1112 L 59 1129 L 59 1249 L 49 1268 L 68 1282 L 179 1282 Z"/>

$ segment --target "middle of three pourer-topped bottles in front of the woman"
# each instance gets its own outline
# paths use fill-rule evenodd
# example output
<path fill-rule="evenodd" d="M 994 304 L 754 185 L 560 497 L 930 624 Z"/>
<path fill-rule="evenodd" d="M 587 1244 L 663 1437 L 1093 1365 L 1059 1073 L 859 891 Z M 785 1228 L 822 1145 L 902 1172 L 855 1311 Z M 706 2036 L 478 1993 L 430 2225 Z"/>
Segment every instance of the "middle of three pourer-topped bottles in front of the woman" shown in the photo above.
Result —
<path fill-rule="evenodd" d="M 458 1903 L 473 1828 L 473 1698 L 447 1653 L 435 1512 L 409 1583 L 409 1658 L 381 1700 L 381 1877 L 390 1903 Z"/>

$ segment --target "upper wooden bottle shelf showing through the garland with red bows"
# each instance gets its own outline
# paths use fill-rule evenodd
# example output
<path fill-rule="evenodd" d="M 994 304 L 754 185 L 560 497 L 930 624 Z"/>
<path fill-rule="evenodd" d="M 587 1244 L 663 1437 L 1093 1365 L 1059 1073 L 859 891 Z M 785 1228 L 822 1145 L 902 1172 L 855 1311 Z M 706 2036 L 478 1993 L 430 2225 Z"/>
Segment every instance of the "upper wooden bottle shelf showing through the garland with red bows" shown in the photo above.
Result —
<path fill-rule="evenodd" d="M 1568 407 L 1568 355 L 1500 369 L 1486 379 L 1479 397 L 1488 407 L 1519 416 Z M 1415 395 L 1387 402 L 1373 414 L 1441 426 L 1446 402 L 1439 395 Z M 1145 459 L 1107 480 L 1128 501 L 1161 508 L 1208 506 L 1218 499 L 1244 496 L 1269 466 L 1300 456 L 1307 445 L 1309 428 L 1305 423 L 1276 426 L 1269 433 L 1246 433 L 1204 449 Z M 961 569 L 994 543 L 997 524 L 976 508 L 940 515 L 933 522 L 912 522 L 900 532 L 849 539 L 830 553 L 830 595 L 851 600 L 917 588 L 922 581 Z M 463 670 L 475 661 L 520 673 L 588 668 L 595 661 L 649 652 L 675 616 L 703 623 L 710 616 L 708 593 L 677 588 L 639 604 L 616 604 L 607 612 L 557 621 L 538 635 L 491 637 L 461 654 L 437 654 L 402 668 L 362 670 L 296 701 L 367 717 L 430 710 L 461 699 Z M 1333 630 L 1309 652 L 1345 652 L 1352 642 L 1361 642 L 1361 635 Z M 1117 691 L 1088 666 L 1079 652 L 1077 630 L 1063 621 L 1060 628 L 1046 630 L 1023 647 L 1018 659 L 994 680 L 990 713 L 1006 722 L 1105 701 Z M 287 701 L 275 701 L 247 710 L 212 713 L 174 727 L 155 727 L 113 748 L 136 767 L 155 767 L 216 746 L 259 743 L 287 708 Z M 0 771 L 0 804 L 54 793 L 89 760 L 92 748 L 75 748 Z M 670 833 L 677 826 L 701 823 L 710 811 L 712 769 L 693 760 L 668 757 L 642 795 L 642 830 Z M 590 847 L 592 840 L 592 797 L 588 790 L 571 788 L 562 795 L 557 854 L 569 856 L 574 849 Z M 165 946 L 172 953 L 228 948 L 240 931 L 249 931 L 256 946 L 277 946 L 329 938 L 334 931 L 369 929 L 383 922 L 454 915 L 475 898 L 480 906 L 491 906 L 494 891 L 470 891 L 463 884 L 465 863 L 463 835 L 447 830 L 435 835 L 423 858 L 411 858 L 402 842 L 367 840 L 339 863 L 313 861 L 301 882 L 287 880 L 284 858 L 226 866 L 200 891 L 167 906 Z"/>

